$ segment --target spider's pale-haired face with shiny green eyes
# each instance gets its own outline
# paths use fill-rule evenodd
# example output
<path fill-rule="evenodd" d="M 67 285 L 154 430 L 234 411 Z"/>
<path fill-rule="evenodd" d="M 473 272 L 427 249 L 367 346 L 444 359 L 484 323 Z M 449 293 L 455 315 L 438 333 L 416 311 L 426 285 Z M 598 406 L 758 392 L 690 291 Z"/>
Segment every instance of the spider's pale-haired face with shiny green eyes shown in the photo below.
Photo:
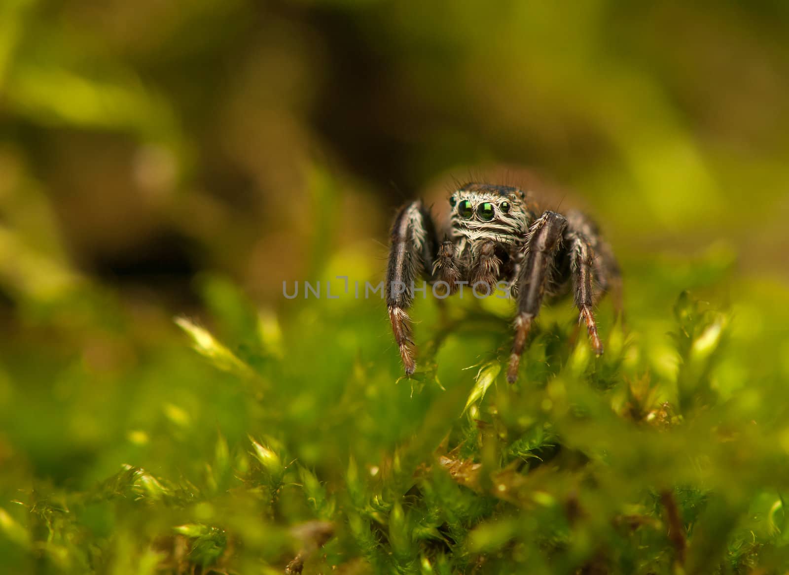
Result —
<path fill-rule="evenodd" d="M 449 199 L 455 235 L 512 243 L 528 226 L 525 193 L 508 185 L 466 184 Z"/>

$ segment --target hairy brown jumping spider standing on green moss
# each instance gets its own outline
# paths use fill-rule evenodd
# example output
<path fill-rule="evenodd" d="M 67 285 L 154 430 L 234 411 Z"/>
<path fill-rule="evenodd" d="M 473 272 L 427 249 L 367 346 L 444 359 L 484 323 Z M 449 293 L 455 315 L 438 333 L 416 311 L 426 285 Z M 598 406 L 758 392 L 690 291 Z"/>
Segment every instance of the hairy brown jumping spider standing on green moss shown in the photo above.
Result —
<path fill-rule="evenodd" d="M 443 241 L 421 200 L 402 207 L 392 223 L 387 306 L 406 375 L 416 368 L 408 309 L 414 282 L 423 278 L 434 285 L 443 282 L 448 293 L 468 285 L 475 295 L 489 295 L 499 282 L 507 282 L 518 301 L 509 383 L 518 378 L 543 299 L 563 295 L 570 286 L 578 322 L 585 323 L 594 352 L 603 353 L 593 307 L 611 289 L 619 296 L 621 276 L 611 248 L 587 216 L 543 211 L 532 196 L 508 185 L 462 185 L 449 204 L 451 227 Z"/>

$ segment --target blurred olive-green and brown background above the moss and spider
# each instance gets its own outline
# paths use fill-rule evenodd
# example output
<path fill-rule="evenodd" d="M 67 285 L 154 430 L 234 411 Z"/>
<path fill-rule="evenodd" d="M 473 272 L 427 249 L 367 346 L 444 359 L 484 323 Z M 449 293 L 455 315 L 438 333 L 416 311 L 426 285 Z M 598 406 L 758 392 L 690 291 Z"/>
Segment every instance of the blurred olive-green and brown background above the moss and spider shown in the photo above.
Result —
<path fill-rule="evenodd" d="M 2 325 L 16 290 L 66 281 L 33 259 L 174 308 L 219 270 L 277 305 L 314 246 L 383 258 L 398 204 L 498 163 L 574 189 L 619 253 L 716 245 L 786 278 L 787 21 L 783 2 L 3 0 Z"/>

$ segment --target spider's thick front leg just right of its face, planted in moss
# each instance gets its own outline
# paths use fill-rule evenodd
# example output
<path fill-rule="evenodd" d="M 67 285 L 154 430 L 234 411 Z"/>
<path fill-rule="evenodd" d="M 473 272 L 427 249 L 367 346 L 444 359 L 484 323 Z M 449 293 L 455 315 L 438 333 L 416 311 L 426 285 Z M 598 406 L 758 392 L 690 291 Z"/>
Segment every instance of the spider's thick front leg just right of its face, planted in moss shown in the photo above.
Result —
<path fill-rule="evenodd" d="M 567 219 L 553 211 L 546 211 L 529 228 L 525 256 L 518 274 L 518 316 L 515 318 L 515 338 L 507 368 L 507 381 L 518 379 L 518 365 L 529 337 L 532 321 L 540 313 L 545 290 L 551 281 L 556 253 L 562 244 Z"/>

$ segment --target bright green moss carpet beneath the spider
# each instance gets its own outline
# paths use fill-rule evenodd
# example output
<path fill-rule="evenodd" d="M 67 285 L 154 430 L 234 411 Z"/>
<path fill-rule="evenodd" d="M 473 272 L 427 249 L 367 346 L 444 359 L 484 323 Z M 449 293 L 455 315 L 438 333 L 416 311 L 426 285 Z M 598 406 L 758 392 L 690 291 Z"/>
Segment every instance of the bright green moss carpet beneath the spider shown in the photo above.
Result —
<path fill-rule="evenodd" d="M 375 282 L 376 265 L 351 250 L 320 273 Z M 342 281 L 338 300 L 301 292 L 273 315 L 205 274 L 207 327 L 87 279 L 16 289 L 4 565 L 782 572 L 789 293 L 726 253 L 625 267 L 626 323 L 599 310 L 607 353 L 556 304 L 514 386 L 495 298 L 417 301 L 422 368 L 405 379 L 383 302 Z"/>

